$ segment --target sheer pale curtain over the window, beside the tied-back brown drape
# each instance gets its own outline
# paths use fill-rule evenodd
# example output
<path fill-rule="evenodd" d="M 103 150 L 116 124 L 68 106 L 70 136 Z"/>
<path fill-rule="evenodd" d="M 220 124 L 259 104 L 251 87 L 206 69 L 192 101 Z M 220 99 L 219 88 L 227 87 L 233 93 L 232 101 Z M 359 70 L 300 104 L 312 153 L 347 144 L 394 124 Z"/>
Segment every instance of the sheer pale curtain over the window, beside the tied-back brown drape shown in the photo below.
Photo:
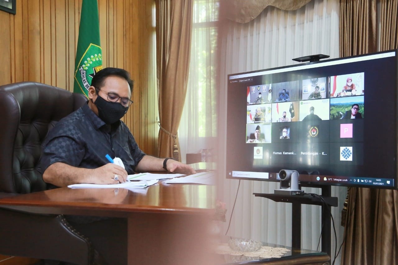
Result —
<path fill-rule="evenodd" d="M 182 162 L 186 153 L 217 148 L 215 88 L 218 0 L 194 0 L 187 95 L 178 129 Z"/>

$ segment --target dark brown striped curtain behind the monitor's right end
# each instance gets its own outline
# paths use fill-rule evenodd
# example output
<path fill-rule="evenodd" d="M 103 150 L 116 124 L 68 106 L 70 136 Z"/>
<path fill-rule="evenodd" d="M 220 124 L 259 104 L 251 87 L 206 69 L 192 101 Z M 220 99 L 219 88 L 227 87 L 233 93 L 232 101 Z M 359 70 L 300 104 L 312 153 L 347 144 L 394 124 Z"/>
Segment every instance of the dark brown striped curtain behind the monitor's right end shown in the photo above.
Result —
<path fill-rule="evenodd" d="M 340 1 L 340 56 L 376 51 L 376 0 Z M 398 48 L 398 0 L 380 0 L 380 50 Z M 358 15 L 354 15 L 358 14 Z M 398 193 L 351 188 L 341 264 L 398 263 Z"/>

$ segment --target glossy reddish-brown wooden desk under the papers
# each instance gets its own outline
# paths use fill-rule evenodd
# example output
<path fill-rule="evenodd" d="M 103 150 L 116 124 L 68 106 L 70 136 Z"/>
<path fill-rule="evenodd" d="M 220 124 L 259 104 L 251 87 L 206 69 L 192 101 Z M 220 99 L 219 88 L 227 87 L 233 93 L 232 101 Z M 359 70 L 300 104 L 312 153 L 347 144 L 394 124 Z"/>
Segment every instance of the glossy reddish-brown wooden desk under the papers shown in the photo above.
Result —
<path fill-rule="evenodd" d="M 163 183 L 146 193 L 59 188 L 0 199 L 23 212 L 127 218 L 129 264 L 212 263 L 205 246 L 215 203 L 215 186 Z"/>

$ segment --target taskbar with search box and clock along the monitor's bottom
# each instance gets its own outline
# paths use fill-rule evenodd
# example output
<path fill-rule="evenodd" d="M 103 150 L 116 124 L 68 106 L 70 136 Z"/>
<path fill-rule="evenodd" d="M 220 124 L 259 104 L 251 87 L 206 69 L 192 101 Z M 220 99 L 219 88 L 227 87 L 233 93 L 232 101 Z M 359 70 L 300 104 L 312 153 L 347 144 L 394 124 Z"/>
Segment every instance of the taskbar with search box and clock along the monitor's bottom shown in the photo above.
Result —
<path fill-rule="evenodd" d="M 231 171 L 230 177 L 248 179 L 267 179 L 278 180 L 279 173 L 276 172 L 252 172 L 252 171 Z M 394 179 L 371 178 L 371 177 L 338 177 L 327 175 L 306 175 L 300 174 L 299 181 L 319 183 L 319 184 L 341 184 L 344 186 L 371 186 L 371 187 L 394 187 Z"/>

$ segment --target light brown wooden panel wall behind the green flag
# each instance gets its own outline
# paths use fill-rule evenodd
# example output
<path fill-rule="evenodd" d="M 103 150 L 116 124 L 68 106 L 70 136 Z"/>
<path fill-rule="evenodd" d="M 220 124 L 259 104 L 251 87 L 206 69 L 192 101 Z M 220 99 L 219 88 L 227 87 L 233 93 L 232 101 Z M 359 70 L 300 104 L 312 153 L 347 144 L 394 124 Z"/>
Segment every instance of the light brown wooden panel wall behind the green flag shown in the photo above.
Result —
<path fill-rule="evenodd" d="M 18 0 L 16 15 L 0 10 L 0 85 L 34 81 L 73 91 L 82 0 Z M 140 148 L 158 149 L 158 96 L 153 0 L 98 0 L 103 66 L 135 80 L 124 117 Z"/>

